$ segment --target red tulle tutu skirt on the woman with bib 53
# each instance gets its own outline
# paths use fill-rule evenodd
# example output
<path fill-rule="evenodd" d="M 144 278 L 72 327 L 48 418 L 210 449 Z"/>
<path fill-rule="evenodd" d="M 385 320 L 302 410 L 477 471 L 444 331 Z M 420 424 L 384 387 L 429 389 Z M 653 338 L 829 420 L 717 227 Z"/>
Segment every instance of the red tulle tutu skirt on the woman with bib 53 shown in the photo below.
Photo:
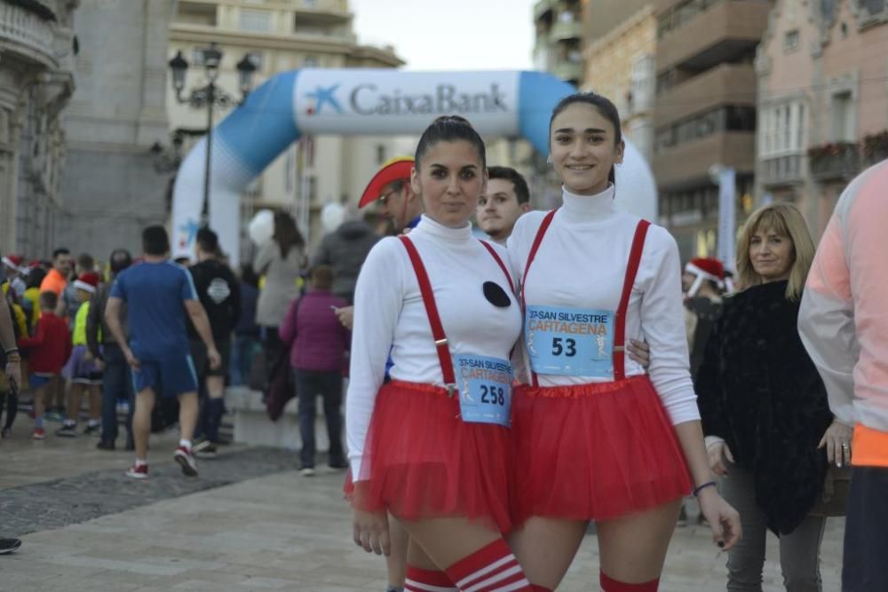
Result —
<path fill-rule="evenodd" d="M 512 398 L 512 521 L 607 520 L 690 493 L 675 430 L 646 375 L 519 387 Z"/>

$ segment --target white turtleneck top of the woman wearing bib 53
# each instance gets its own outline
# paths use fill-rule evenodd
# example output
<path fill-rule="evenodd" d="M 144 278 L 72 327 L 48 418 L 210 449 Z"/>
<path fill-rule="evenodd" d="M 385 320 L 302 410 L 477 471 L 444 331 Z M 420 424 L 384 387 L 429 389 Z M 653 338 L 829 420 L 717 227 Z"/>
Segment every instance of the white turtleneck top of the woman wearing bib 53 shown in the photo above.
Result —
<path fill-rule="evenodd" d="M 639 218 L 616 207 L 614 185 L 590 196 L 564 190 L 563 201 L 530 266 L 527 305 L 615 311 Z M 545 215 L 528 212 L 511 233 L 509 256 L 519 281 Z M 651 225 L 647 232 L 626 316 L 626 343 L 630 339 L 650 344 L 648 372 L 672 423 L 700 419 L 689 372 L 678 246 L 661 226 Z M 626 375 L 643 373 L 627 356 Z M 540 374 L 537 380 L 540 386 L 557 386 L 611 379 Z"/>

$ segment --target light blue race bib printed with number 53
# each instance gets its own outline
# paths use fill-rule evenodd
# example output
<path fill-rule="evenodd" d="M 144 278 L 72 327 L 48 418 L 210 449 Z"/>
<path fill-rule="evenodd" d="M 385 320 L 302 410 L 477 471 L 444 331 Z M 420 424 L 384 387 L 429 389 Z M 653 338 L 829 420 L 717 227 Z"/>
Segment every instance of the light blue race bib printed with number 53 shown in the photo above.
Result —
<path fill-rule="evenodd" d="M 528 306 L 525 343 L 537 374 L 614 375 L 614 312 Z"/>

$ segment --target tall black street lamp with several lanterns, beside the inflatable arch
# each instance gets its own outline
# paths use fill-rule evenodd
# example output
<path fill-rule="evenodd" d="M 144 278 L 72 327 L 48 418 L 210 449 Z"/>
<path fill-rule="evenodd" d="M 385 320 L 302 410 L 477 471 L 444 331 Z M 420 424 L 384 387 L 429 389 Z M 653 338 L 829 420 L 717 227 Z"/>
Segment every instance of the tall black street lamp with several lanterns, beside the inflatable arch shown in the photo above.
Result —
<path fill-rule="evenodd" d="M 241 91 L 241 100 L 235 100 L 224 89 L 217 86 L 216 80 L 219 75 L 219 67 L 222 64 L 224 53 L 219 49 L 217 43 L 210 43 L 210 47 L 199 50 L 203 62 L 204 74 L 207 77 L 207 85 L 194 89 L 187 96 L 183 96 L 185 90 L 185 78 L 188 71 L 188 60 L 182 55 L 182 51 L 177 51 L 175 57 L 170 59 L 170 73 L 172 74 L 172 88 L 176 91 L 176 100 L 181 104 L 187 104 L 195 109 L 207 109 L 207 158 L 203 171 L 203 206 L 201 209 L 201 225 L 206 226 L 210 223 L 210 155 L 213 147 L 213 107 L 227 109 L 232 106 L 239 106 L 247 100 L 253 84 L 253 74 L 256 72 L 256 65 L 253 63 L 250 54 L 243 56 L 243 59 L 237 63 L 238 86 Z"/>

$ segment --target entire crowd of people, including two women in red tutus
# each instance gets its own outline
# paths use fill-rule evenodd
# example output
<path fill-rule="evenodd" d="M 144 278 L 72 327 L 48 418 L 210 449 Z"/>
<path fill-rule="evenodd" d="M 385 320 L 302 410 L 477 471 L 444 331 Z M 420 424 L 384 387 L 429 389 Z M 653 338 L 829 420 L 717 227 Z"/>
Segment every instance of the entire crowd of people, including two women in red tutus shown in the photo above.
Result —
<path fill-rule="evenodd" d="M 157 401 L 178 399 L 173 457 L 196 477 L 226 384 L 254 383 L 273 418 L 297 397 L 305 477 L 321 397 L 353 540 L 385 555 L 389 592 L 554 590 L 591 522 L 600 587 L 653 592 L 688 500 L 726 552 L 728 590 L 762 589 L 771 531 L 786 589 L 820 591 L 826 522 L 845 514 L 843 589 L 888 589 L 873 520 L 888 276 L 867 242 L 884 241 L 888 164 L 849 187 L 816 255 L 798 209 L 773 203 L 742 226 L 735 262 L 682 265 L 666 230 L 619 207 L 623 147 L 608 99 L 562 99 L 562 205 L 531 211 L 471 122 L 440 117 L 361 196 L 385 237 L 353 212 L 309 252 L 281 212 L 240 277 L 209 228 L 187 269 L 161 226 L 106 270 L 66 249 L 4 257 L 2 435 L 22 376 L 35 439 L 52 418 L 58 437 L 113 450 L 127 401 L 127 475 L 147 478 Z"/>

